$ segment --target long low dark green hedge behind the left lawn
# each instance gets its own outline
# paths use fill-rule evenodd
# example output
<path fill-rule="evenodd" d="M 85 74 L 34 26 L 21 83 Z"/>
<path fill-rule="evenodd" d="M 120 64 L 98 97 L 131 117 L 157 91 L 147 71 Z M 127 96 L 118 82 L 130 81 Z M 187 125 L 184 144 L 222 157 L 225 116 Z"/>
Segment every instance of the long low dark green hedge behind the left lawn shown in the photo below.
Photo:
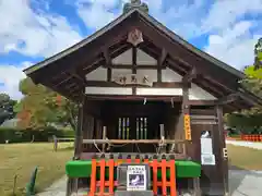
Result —
<path fill-rule="evenodd" d="M 57 137 L 74 137 L 72 130 L 56 130 L 53 127 L 45 127 L 44 130 L 19 130 L 0 127 L 0 144 L 9 143 L 29 143 L 48 142 L 53 135 Z"/>

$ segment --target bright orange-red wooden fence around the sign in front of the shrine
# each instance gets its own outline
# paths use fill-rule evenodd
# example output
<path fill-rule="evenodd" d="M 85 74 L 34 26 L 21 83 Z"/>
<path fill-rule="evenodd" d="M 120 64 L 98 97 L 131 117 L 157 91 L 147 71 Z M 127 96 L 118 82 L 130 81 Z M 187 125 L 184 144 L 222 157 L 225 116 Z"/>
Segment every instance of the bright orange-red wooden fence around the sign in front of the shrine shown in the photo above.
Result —
<path fill-rule="evenodd" d="M 122 159 L 122 160 L 114 160 L 114 159 L 92 159 L 92 174 L 91 174 L 91 191 L 88 193 L 88 196 L 112 196 L 114 189 L 116 186 L 118 186 L 118 182 L 114 179 L 114 169 L 121 162 L 131 162 L 131 159 Z M 134 162 L 139 163 L 141 162 L 140 159 L 135 159 Z M 157 159 L 153 159 L 153 161 L 148 161 L 145 159 L 143 162 L 148 163 L 150 167 L 153 170 L 153 192 L 154 195 L 157 195 L 158 187 L 162 188 L 162 195 L 166 196 L 167 194 L 170 196 L 177 196 L 177 189 L 176 189 L 176 167 L 175 167 L 175 160 L 166 160 L 162 159 L 160 161 L 157 161 Z M 98 169 L 99 168 L 99 169 Z M 109 170 L 109 179 L 106 180 L 106 168 Z M 162 171 L 162 179 L 157 179 L 157 169 L 160 169 Z M 99 181 L 96 179 L 97 169 L 99 170 Z M 170 177 L 169 181 L 166 177 L 166 170 L 170 170 Z M 98 193 L 97 193 L 98 187 Z M 169 192 L 167 193 L 167 187 L 169 187 Z M 106 189 L 108 188 L 108 192 L 106 193 Z"/>

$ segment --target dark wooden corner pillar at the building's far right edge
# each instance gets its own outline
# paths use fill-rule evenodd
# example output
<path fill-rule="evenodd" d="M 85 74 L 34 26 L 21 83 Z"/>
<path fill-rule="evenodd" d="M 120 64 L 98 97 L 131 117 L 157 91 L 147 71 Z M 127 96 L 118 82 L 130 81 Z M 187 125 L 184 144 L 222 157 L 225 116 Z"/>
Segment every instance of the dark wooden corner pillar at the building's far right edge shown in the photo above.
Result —
<path fill-rule="evenodd" d="M 223 106 L 216 106 L 216 114 L 217 114 L 217 125 L 218 125 L 218 135 L 219 135 L 219 155 L 221 155 L 221 167 L 223 172 L 223 187 L 225 191 L 225 195 L 229 195 L 229 186 L 228 186 L 228 159 L 224 157 L 224 148 L 226 148 L 226 140 L 224 134 L 224 118 L 223 118 Z"/>

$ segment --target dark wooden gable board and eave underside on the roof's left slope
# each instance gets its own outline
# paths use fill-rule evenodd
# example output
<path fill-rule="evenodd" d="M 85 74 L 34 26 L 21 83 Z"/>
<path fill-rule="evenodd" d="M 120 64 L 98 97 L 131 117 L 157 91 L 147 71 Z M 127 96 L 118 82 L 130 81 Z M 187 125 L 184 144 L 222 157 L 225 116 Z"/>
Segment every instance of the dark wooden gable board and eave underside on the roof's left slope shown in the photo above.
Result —
<path fill-rule="evenodd" d="M 134 15 L 123 20 L 120 26 L 116 26 L 114 29 L 107 30 L 105 34 L 95 34 L 81 41 L 75 46 L 75 48 L 78 47 L 76 51 L 57 60 L 56 63 L 51 62 L 50 66 L 43 68 L 41 71 L 35 72 L 32 74 L 32 78 L 38 83 L 43 83 L 43 81 L 49 79 L 44 75 L 57 75 L 61 70 L 80 69 L 80 73 L 82 73 L 83 66 L 93 64 L 96 58 L 100 54 L 103 48 L 110 47 L 123 40 L 126 41 L 127 33 L 132 25 L 134 25 Z"/>

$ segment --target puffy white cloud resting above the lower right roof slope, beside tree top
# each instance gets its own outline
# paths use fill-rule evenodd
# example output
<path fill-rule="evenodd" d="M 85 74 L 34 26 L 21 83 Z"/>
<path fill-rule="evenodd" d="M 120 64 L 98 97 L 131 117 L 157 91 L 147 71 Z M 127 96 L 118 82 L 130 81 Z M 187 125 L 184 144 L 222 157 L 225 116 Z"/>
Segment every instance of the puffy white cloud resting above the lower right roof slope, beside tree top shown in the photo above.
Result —
<path fill-rule="evenodd" d="M 206 52 L 242 70 L 253 62 L 253 47 L 262 35 L 250 35 L 250 22 L 239 22 L 222 34 L 210 35 Z"/>

